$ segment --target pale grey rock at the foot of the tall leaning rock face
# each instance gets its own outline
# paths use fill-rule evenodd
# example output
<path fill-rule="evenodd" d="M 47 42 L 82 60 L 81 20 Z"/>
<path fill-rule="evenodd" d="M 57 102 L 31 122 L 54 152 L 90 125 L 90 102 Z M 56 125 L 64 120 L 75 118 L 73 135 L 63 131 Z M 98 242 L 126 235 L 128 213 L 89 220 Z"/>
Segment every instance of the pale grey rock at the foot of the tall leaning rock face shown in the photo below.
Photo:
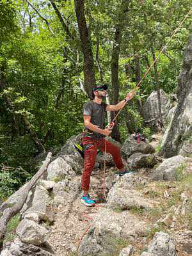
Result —
<path fill-rule="evenodd" d="M 185 158 L 180 155 L 165 159 L 152 173 L 152 179 L 175 180 L 177 168 L 183 163 L 185 163 Z"/>

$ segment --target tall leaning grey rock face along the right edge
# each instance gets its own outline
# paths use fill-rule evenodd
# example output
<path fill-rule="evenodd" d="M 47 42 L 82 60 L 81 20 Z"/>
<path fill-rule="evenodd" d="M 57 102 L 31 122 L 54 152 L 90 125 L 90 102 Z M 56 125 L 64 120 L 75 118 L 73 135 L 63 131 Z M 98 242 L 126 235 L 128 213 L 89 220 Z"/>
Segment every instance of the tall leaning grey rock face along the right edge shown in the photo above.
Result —
<path fill-rule="evenodd" d="M 178 78 L 178 104 L 172 119 L 161 154 L 172 157 L 179 154 L 182 141 L 192 135 L 192 38 L 184 54 L 182 70 Z"/>

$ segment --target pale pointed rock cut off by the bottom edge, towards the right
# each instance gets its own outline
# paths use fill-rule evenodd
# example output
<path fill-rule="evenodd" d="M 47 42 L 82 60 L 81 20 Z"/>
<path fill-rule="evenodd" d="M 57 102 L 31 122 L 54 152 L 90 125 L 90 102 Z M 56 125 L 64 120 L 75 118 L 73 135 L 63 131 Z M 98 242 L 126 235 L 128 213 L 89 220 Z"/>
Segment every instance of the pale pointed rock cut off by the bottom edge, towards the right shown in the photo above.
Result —
<path fill-rule="evenodd" d="M 156 232 L 148 246 L 148 253 L 155 256 L 176 256 L 175 242 L 169 234 Z"/>

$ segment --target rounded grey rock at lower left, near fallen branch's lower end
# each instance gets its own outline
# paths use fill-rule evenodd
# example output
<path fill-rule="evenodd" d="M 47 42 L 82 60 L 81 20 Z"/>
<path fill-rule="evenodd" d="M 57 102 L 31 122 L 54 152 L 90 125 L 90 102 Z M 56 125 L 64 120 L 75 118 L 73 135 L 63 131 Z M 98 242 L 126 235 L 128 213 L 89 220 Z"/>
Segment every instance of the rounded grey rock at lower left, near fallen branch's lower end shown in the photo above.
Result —
<path fill-rule="evenodd" d="M 16 230 L 16 233 L 22 242 L 35 245 L 45 243 L 47 232 L 46 228 L 31 220 L 20 221 Z"/>

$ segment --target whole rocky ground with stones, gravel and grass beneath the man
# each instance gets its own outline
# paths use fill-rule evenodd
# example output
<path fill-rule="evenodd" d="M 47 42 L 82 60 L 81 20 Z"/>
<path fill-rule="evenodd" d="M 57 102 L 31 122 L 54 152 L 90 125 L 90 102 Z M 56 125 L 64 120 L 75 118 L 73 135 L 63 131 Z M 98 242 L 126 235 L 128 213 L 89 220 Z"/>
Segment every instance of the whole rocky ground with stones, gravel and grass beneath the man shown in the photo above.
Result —
<path fill-rule="evenodd" d="M 86 207 L 81 204 L 83 159 L 70 151 L 74 140 L 30 191 L 17 237 L 4 243 L 1 256 L 192 255 L 191 158 L 159 157 L 154 147 L 161 134 L 151 144 L 127 138 L 122 156 L 125 164 L 134 164 L 136 174 L 119 177 L 107 155 L 104 181 L 104 156 L 99 154 L 102 166 L 93 170 L 90 188 L 97 204 Z M 18 200 L 19 191 L 7 204 Z"/>

